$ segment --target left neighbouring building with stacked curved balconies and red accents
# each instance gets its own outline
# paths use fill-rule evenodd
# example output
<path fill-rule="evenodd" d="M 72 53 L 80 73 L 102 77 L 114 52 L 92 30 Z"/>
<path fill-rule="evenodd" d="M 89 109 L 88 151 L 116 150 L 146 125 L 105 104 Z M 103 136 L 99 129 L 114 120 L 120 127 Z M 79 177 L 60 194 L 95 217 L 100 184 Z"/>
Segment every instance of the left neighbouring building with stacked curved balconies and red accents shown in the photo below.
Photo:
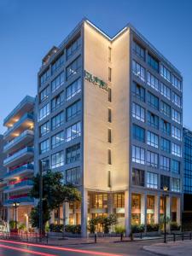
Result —
<path fill-rule="evenodd" d="M 5 145 L 3 152 L 7 157 L 3 165 L 7 167 L 4 181 L 7 186 L 3 193 L 8 196 L 4 206 L 8 209 L 8 221 L 15 220 L 15 207 L 17 207 L 17 220 L 26 224 L 27 216 L 31 212 L 33 200 L 28 193 L 32 189 L 33 141 L 34 141 L 34 109 L 35 99 L 26 96 L 9 115 L 3 120 L 7 127 L 3 138 Z"/>

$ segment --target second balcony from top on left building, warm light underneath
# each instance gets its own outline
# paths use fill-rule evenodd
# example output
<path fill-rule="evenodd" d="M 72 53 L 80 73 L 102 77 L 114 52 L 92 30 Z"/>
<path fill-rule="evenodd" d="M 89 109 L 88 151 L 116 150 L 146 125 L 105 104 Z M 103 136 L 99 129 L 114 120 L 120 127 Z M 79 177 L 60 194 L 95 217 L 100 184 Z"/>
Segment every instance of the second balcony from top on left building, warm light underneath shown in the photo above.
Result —
<path fill-rule="evenodd" d="M 3 138 L 4 140 L 11 140 L 27 129 L 32 130 L 33 126 L 33 114 L 25 113 L 13 126 L 4 132 Z"/>

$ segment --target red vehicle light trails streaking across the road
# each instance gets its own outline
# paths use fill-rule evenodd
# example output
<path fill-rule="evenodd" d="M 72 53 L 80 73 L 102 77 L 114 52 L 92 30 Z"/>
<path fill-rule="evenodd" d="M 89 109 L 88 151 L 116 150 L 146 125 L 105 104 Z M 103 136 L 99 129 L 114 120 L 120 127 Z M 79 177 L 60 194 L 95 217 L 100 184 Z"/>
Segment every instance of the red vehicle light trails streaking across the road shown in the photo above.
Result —
<path fill-rule="evenodd" d="M 60 250 L 60 251 L 65 251 L 65 252 L 73 252 L 73 253 L 84 253 L 84 254 L 101 255 L 101 256 L 122 256 L 122 254 L 95 252 L 95 251 L 90 251 L 90 250 L 73 249 L 73 248 L 69 248 L 69 247 L 55 247 L 55 246 L 33 244 L 33 243 L 21 242 L 21 241 L 7 241 L 7 240 L 2 240 L 2 239 L 0 241 L 7 242 L 7 243 L 12 243 L 12 244 L 18 244 L 18 245 L 48 248 L 48 249 Z"/>

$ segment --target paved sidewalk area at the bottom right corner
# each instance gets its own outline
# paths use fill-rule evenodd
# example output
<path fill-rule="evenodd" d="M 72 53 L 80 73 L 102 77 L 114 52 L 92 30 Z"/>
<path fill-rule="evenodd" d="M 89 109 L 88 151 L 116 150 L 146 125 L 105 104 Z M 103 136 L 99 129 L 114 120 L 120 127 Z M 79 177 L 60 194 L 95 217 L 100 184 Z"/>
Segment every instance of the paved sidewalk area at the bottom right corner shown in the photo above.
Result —
<path fill-rule="evenodd" d="M 155 243 L 150 246 L 144 246 L 143 249 L 156 255 L 166 256 L 191 256 L 192 241 L 171 241 L 168 243 Z"/>

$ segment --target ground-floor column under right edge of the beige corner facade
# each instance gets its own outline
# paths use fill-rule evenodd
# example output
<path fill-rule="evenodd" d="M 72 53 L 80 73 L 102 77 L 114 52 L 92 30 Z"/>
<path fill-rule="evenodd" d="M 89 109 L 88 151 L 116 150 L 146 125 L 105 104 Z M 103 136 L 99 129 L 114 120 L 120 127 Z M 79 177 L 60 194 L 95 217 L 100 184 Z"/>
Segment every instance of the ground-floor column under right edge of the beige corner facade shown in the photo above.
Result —
<path fill-rule="evenodd" d="M 131 191 L 125 190 L 125 235 L 131 232 Z"/>

